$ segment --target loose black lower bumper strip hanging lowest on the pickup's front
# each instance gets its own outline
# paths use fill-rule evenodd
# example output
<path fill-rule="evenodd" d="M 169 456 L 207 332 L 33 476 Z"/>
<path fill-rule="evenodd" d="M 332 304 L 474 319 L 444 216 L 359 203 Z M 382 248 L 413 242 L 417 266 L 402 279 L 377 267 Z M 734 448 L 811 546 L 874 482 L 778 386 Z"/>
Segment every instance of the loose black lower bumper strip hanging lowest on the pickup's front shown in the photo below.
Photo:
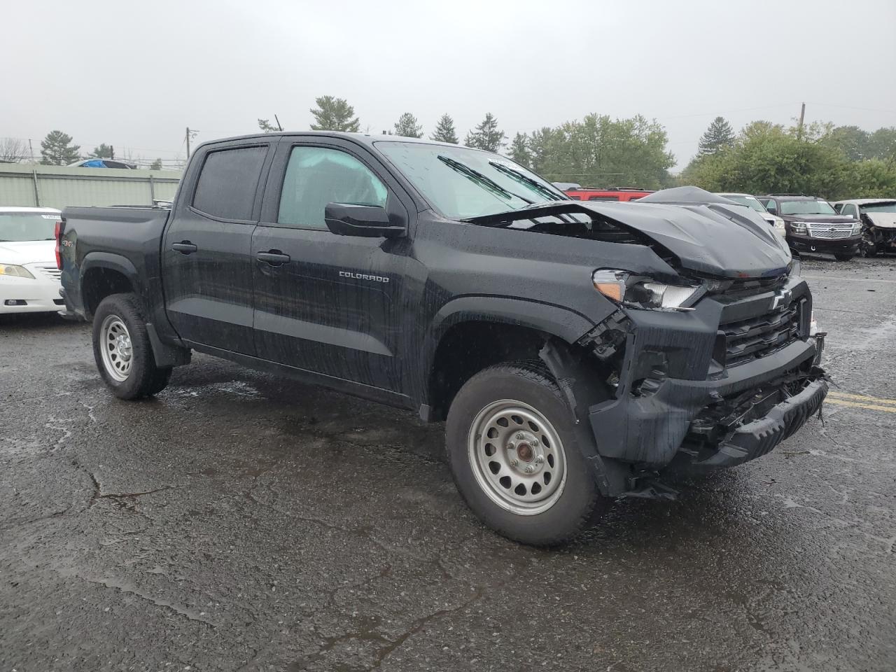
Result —
<path fill-rule="evenodd" d="M 694 462 L 694 466 L 733 467 L 771 452 L 821 409 L 827 394 L 828 383 L 825 381 L 809 383 L 802 392 L 772 407 L 764 417 L 737 427 L 719 444 L 718 452 L 706 460 Z"/>

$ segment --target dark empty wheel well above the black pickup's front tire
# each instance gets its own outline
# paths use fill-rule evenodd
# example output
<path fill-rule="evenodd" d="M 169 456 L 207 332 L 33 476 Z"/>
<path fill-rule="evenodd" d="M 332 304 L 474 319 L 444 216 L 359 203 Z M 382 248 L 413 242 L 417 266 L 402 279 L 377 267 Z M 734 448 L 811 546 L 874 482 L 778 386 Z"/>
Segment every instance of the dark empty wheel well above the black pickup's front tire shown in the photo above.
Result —
<path fill-rule="evenodd" d="M 429 374 L 430 420 L 444 420 L 454 395 L 473 375 L 501 362 L 538 361 L 547 333 L 516 324 L 463 322 L 439 340 Z"/>

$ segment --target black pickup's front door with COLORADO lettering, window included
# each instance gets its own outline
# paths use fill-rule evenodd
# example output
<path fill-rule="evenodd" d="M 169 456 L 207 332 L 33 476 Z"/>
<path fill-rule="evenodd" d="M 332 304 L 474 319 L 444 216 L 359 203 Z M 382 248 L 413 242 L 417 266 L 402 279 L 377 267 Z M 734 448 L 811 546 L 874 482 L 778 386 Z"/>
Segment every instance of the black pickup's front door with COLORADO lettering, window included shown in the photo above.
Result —
<path fill-rule="evenodd" d="M 337 236 L 323 220 L 327 203 L 352 202 L 386 207 L 407 222 L 399 189 L 353 142 L 280 142 L 252 242 L 258 357 L 401 390 L 399 317 L 409 239 Z"/>

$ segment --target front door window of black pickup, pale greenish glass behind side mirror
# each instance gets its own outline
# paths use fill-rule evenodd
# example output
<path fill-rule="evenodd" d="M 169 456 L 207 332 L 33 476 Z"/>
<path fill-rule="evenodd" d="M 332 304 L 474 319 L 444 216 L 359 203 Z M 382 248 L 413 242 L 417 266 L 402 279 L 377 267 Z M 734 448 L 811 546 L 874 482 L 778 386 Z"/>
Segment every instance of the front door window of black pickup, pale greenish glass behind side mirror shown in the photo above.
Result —
<path fill-rule="evenodd" d="M 294 147 L 289 154 L 280 224 L 326 228 L 323 211 L 328 203 L 354 203 L 385 207 L 385 185 L 358 159 L 324 147 Z"/>

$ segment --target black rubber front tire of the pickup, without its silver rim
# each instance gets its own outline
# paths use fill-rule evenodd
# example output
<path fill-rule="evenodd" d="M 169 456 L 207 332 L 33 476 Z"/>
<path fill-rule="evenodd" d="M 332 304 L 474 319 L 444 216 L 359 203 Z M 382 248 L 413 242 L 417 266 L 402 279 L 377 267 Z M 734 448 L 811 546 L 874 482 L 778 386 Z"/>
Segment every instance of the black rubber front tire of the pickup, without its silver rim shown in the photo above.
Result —
<path fill-rule="evenodd" d="M 473 464 L 476 458 L 472 455 L 479 446 L 474 439 L 471 448 L 470 433 L 480 412 L 502 400 L 522 402 L 536 409 L 547 419 L 562 444 L 565 482 L 556 501 L 546 511 L 513 513 L 497 504 L 494 494 L 489 494 L 487 477 L 486 485 L 480 485 L 478 480 L 483 477 L 477 476 L 478 468 Z M 479 520 L 504 537 L 532 546 L 555 546 L 575 537 L 607 507 L 609 500 L 599 495 L 590 467 L 582 456 L 573 412 L 543 366 L 511 362 L 490 366 L 474 375 L 452 401 L 445 435 L 452 476 L 461 497 Z M 544 437 L 542 444 L 545 444 Z M 502 451 L 504 447 L 497 450 Z M 503 472 L 496 472 L 495 478 L 500 473 Z"/>

